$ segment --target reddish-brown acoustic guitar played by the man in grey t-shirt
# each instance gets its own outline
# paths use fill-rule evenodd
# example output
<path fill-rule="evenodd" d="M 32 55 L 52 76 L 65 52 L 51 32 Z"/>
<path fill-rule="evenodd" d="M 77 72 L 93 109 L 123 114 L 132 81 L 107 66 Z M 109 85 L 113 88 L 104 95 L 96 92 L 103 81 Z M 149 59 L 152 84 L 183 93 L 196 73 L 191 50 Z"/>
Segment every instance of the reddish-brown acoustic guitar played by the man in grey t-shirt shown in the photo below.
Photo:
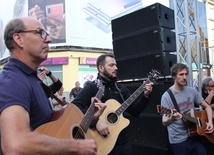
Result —
<path fill-rule="evenodd" d="M 160 114 L 171 114 L 176 112 L 176 110 L 168 109 L 161 105 L 157 105 L 157 112 Z M 214 132 L 206 133 L 206 123 L 208 122 L 207 113 L 205 110 L 196 111 L 194 109 L 190 110 L 190 114 L 181 114 L 184 123 L 187 125 L 188 134 L 190 137 L 196 135 L 204 136 L 210 142 L 214 144 Z"/>

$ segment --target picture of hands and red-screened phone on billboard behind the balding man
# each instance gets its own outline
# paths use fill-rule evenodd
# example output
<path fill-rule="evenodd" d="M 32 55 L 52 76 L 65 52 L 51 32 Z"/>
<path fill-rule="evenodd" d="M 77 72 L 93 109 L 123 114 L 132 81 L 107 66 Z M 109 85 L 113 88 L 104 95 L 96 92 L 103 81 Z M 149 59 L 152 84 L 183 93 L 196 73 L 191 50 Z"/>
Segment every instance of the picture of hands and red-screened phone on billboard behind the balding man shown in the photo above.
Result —
<path fill-rule="evenodd" d="M 29 0 L 28 15 L 43 23 L 52 43 L 66 42 L 65 0 Z"/>

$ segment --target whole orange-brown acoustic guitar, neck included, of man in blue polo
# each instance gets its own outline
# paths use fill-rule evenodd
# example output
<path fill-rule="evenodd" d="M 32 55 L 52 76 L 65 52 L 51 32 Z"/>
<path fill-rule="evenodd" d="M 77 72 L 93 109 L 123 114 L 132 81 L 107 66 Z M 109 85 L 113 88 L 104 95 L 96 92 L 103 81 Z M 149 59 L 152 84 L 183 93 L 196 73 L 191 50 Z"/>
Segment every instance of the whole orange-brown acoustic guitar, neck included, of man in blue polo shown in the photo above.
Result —
<path fill-rule="evenodd" d="M 95 97 L 101 99 L 103 93 L 104 86 L 100 86 Z M 76 105 L 67 104 L 60 118 L 39 126 L 35 131 L 63 139 L 93 139 L 89 126 L 96 111 L 94 103 L 90 105 L 85 115 Z"/>

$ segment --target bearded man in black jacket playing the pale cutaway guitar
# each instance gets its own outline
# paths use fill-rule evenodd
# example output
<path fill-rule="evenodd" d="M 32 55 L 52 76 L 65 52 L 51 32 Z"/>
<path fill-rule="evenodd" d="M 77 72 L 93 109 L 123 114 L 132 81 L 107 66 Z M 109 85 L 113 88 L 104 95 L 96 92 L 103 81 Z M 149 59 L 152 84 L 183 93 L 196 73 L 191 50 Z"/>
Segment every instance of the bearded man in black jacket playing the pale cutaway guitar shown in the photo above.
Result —
<path fill-rule="evenodd" d="M 117 64 L 113 55 L 104 54 L 98 57 L 97 59 L 97 69 L 98 76 L 93 82 L 88 83 L 78 94 L 78 96 L 73 100 L 72 103 L 77 105 L 83 113 L 87 111 L 91 104 L 90 98 L 95 96 L 98 91 L 97 83 L 101 81 L 105 86 L 104 94 L 101 98 L 101 102 L 104 103 L 108 99 L 115 99 L 119 103 L 123 103 L 128 97 L 131 95 L 129 90 L 117 83 Z M 153 83 L 145 84 L 144 92 L 136 99 L 133 104 L 126 109 L 125 113 L 128 113 L 132 116 L 139 116 L 142 110 L 146 107 L 149 102 L 150 93 L 152 91 Z M 124 113 L 124 114 L 125 114 Z M 111 134 L 107 125 L 101 120 L 96 120 L 91 124 L 92 128 L 96 128 L 96 130 L 102 135 L 107 136 Z M 109 155 L 132 155 L 131 143 L 129 141 L 129 137 L 127 135 L 126 129 L 122 130 L 117 142 L 110 152 Z"/>

